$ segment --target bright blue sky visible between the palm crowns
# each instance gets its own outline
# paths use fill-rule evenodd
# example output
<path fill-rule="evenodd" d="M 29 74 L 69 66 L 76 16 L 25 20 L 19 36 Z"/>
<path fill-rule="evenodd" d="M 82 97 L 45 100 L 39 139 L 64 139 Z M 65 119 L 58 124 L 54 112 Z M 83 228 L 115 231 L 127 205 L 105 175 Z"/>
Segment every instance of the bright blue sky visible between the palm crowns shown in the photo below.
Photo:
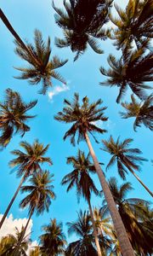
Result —
<path fill-rule="evenodd" d="M 60 6 L 62 1 L 54 0 L 54 3 Z M 123 6 L 127 1 L 117 1 L 117 3 L 122 3 Z M 65 66 L 59 69 L 59 73 L 67 80 L 67 85 L 64 86 L 54 80 L 54 87 L 48 90 L 48 95 L 39 95 L 37 91 L 40 89 L 40 85 L 31 86 L 27 81 L 14 79 L 14 76 L 19 74 L 14 67 L 23 67 L 26 63 L 21 61 L 20 58 L 14 54 L 14 38 L 0 20 L 0 101 L 3 101 L 4 90 L 8 87 L 19 91 L 26 102 L 38 99 L 37 107 L 31 110 L 31 113 L 37 114 L 37 117 L 31 119 L 29 122 L 31 131 L 26 133 L 24 140 L 32 143 L 34 139 L 38 138 L 44 145 L 49 143 L 48 156 L 50 156 L 54 162 L 53 166 L 44 166 L 44 168 L 49 168 L 50 172 L 54 173 L 54 192 L 57 195 L 57 199 L 53 201 L 48 213 L 44 213 L 38 218 L 36 218 L 35 215 L 33 216 L 31 237 L 33 240 L 37 240 L 37 236 L 41 233 L 40 228 L 42 224 L 48 224 L 49 218 L 57 218 L 58 221 L 62 221 L 66 234 L 67 229 L 65 223 L 77 218 L 78 209 L 88 208 L 86 202 L 83 200 L 81 200 L 79 205 L 77 204 L 75 189 L 66 194 L 66 188 L 60 185 L 62 177 L 72 170 L 71 166 L 66 166 L 66 157 L 76 155 L 78 147 L 85 150 L 86 153 L 88 153 L 88 148 L 85 143 L 80 143 L 79 146 L 74 148 L 69 141 L 63 142 L 62 140 L 69 126 L 55 121 L 54 114 L 63 108 L 64 98 L 71 99 L 74 92 L 79 92 L 81 98 L 88 96 L 91 102 L 98 98 L 104 101 L 104 106 L 108 107 L 105 111 L 105 115 L 109 117 L 109 121 L 99 125 L 103 125 L 108 132 L 104 136 L 98 137 L 99 141 L 110 137 L 110 135 L 115 138 L 121 136 L 121 139 L 132 137 L 134 142 L 131 146 L 133 148 L 140 148 L 143 151 L 143 156 L 149 160 L 142 166 L 142 172 L 139 173 L 139 177 L 150 189 L 152 187 L 151 177 L 153 169 L 153 166 L 150 164 L 150 159 L 153 159 L 151 150 L 153 143 L 152 134 L 149 130 L 144 129 L 144 127 L 134 132 L 133 119 L 121 119 L 118 113 L 122 110 L 122 107 L 116 104 L 118 90 L 116 88 L 110 89 L 101 87 L 99 85 L 99 82 L 105 80 L 105 77 L 102 77 L 99 73 L 99 67 L 108 67 L 106 58 L 110 53 L 116 56 L 120 55 L 110 40 L 100 42 L 101 48 L 104 49 L 105 54 L 97 55 L 92 49 L 88 48 L 87 52 L 82 55 L 78 61 L 73 62 L 74 55 L 71 54 L 71 49 L 58 49 L 54 46 L 54 37 L 61 37 L 62 33 L 54 22 L 54 10 L 52 9 L 51 1 L 1 0 L 1 8 L 14 26 L 14 29 L 20 34 L 21 38 L 27 38 L 30 42 L 33 42 L 33 32 L 35 28 L 37 28 L 42 32 L 44 38 L 50 36 L 52 55 L 59 55 L 61 59 L 69 59 Z M 129 100 L 130 94 L 131 91 L 127 91 L 124 100 Z M 11 170 L 8 167 L 8 161 L 13 157 L 10 151 L 19 148 L 20 141 L 20 136 L 14 136 L 8 147 L 0 152 L 0 213 L 2 214 L 20 182 L 20 180 L 15 177 L 15 173 L 10 174 Z M 93 140 L 92 143 L 99 161 L 104 162 L 106 165 L 110 156 L 99 149 L 101 148 L 101 144 L 95 144 Z M 116 166 L 106 173 L 106 177 L 111 176 L 118 177 Z M 97 187 L 100 189 L 99 181 L 96 176 L 94 180 Z M 118 181 L 122 183 L 119 177 Z M 150 201 L 150 195 L 132 175 L 129 174 L 127 176 L 127 181 L 131 182 L 134 188 L 134 190 L 129 193 L 129 197 L 139 197 Z M 14 206 L 11 208 L 10 213 L 13 214 L 14 218 L 26 218 L 27 216 L 27 211 L 20 211 L 19 208 L 19 203 L 22 198 L 23 195 L 18 195 Z M 101 199 L 93 197 L 92 205 L 101 206 L 101 201 Z M 73 237 L 70 237 L 69 241 L 71 241 L 72 238 Z"/>

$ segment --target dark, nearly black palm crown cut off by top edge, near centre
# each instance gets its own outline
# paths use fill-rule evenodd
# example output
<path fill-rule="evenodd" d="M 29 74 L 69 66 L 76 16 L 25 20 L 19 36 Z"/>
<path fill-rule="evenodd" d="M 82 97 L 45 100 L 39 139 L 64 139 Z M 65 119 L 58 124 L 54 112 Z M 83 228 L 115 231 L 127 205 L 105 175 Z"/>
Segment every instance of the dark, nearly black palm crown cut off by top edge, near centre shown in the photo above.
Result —
<path fill-rule="evenodd" d="M 112 0 L 70 0 L 70 3 L 63 1 L 65 12 L 54 6 L 56 11 L 55 21 L 62 28 L 64 39 L 55 39 L 59 48 L 71 47 L 72 52 L 77 52 L 74 61 L 77 60 L 88 47 L 88 44 L 98 54 L 103 50 L 99 49 L 96 38 L 105 40 L 107 32 L 103 29 L 109 21 Z"/>

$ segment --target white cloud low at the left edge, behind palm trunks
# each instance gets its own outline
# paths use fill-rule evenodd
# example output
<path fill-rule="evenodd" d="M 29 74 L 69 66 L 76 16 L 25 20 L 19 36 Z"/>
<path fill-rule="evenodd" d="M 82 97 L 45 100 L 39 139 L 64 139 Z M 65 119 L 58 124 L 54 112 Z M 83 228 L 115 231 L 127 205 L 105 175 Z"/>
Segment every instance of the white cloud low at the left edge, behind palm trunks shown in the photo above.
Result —
<path fill-rule="evenodd" d="M 3 218 L 3 214 L 0 214 L 0 219 Z M 0 231 L 0 238 L 3 236 L 7 236 L 8 234 L 15 234 L 15 227 L 21 230 L 22 225 L 25 226 L 27 222 L 27 218 L 14 218 L 12 214 L 5 219 L 5 222 Z M 29 222 L 29 225 L 26 230 L 26 235 L 31 233 L 32 227 L 32 219 Z"/>

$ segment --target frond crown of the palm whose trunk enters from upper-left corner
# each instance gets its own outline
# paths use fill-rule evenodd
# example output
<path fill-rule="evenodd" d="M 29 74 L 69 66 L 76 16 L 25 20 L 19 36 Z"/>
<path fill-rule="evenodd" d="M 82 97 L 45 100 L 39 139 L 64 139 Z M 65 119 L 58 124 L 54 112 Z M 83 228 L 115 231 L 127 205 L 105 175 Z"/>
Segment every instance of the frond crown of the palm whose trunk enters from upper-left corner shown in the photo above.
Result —
<path fill-rule="evenodd" d="M 49 60 L 51 54 L 50 38 L 47 43 L 43 41 L 42 33 L 38 30 L 34 32 L 34 44 L 27 43 L 27 48 L 30 49 L 32 55 L 37 58 L 33 61 L 31 55 L 29 55 L 25 48 L 16 40 L 15 53 L 20 56 L 21 59 L 27 61 L 29 67 L 18 67 L 17 70 L 21 71 L 20 77 L 17 79 L 29 79 L 30 84 L 38 84 L 42 81 L 42 90 L 40 93 L 45 94 L 49 86 L 52 86 L 51 79 L 57 79 L 65 84 L 65 79 L 55 71 L 56 68 L 62 67 L 68 60 L 59 61 L 58 56 L 54 56 L 52 60 Z"/>

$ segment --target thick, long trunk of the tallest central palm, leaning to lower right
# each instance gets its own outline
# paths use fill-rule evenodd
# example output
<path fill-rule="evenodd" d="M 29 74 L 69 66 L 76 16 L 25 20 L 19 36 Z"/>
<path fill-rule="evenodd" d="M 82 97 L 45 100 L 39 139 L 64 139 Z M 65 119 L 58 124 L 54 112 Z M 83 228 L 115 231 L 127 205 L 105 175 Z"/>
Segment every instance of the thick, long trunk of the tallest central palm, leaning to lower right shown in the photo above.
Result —
<path fill-rule="evenodd" d="M 113 196 L 111 195 L 111 190 L 108 186 L 108 183 L 105 180 L 105 175 L 101 170 L 101 167 L 99 166 L 99 161 L 94 153 L 94 148 L 92 147 L 92 144 L 90 143 L 88 133 L 85 134 L 86 142 L 88 143 L 88 148 L 90 151 L 90 154 L 94 160 L 94 166 L 96 169 L 96 172 L 99 176 L 99 182 L 101 183 L 101 187 L 103 189 L 105 200 L 107 201 L 107 205 L 109 208 L 109 211 L 111 213 L 111 218 L 114 224 L 114 227 L 116 229 L 116 234 L 118 241 L 120 243 L 120 247 L 122 249 L 122 255 L 123 256 L 134 256 L 133 253 L 133 247 L 131 246 L 131 243 L 128 239 L 127 232 L 125 230 L 124 224 L 122 223 L 122 218 L 116 208 L 116 203 L 113 199 Z"/>

